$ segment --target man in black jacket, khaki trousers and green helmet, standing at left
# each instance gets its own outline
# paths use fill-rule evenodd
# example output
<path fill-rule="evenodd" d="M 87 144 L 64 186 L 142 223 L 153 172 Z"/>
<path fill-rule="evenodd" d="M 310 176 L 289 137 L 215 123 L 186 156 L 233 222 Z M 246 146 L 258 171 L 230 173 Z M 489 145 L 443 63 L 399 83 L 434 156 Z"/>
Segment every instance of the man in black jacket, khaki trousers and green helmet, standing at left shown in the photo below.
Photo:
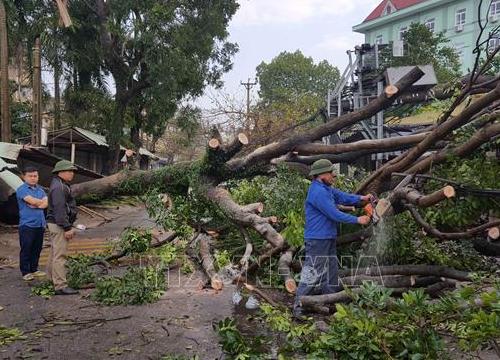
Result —
<path fill-rule="evenodd" d="M 52 170 L 55 174 L 49 189 L 47 223 L 51 235 L 51 247 L 47 275 L 52 280 L 56 295 L 73 295 L 78 291 L 68 287 L 66 280 L 66 254 L 68 241 L 75 233 L 76 202 L 69 183 L 75 176 L 76 166 L 68 160 L 59 161 Z"/>

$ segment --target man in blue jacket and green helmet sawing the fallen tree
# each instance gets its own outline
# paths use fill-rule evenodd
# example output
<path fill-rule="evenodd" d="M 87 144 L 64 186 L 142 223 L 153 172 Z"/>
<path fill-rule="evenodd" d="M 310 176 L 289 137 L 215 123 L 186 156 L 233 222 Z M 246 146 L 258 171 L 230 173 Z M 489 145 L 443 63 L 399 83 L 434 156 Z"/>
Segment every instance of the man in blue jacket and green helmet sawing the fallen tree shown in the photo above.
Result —
<path fill-rule="evenodd" d="M 333 164 L 321 159 L 311 166 L 313 181 L 307 193 L 304 240 L 306 257 L 300 274 L 300 284 L 294 304 L 294 315 L 302 315 L 300 298 L 314 293 L 331 294 L 340 291 L 337 261 L 337 224 L 370 222 L 368 216 L 356 217 L 340 211 L 338 205 L 356 206 L 370 201 L 372 195 L 347 194 L 331 187 L 336 175 Z"/>

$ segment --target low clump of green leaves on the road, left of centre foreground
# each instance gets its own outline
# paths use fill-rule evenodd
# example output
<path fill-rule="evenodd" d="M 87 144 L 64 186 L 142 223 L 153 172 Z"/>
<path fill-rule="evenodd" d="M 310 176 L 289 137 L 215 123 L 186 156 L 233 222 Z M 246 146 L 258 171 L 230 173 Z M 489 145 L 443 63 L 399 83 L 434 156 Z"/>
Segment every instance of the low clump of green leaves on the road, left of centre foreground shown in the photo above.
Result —
<path fill-rule="evenodd" d="M 140 305 L 160 299 L 166 290 L 163 267 L 130 267 L 122 277 L 96 280 L 91 297 L 105 305 Z"/>

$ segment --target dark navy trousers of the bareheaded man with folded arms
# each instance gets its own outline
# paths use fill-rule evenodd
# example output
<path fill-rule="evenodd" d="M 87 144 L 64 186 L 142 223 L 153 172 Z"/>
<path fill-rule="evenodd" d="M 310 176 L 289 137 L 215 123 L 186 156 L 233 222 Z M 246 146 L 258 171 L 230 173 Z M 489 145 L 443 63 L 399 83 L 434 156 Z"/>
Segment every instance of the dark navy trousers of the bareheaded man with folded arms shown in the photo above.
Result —
<path fill-rule="evenodd" d="M 21 245 L 19 267 L 23 276 L 38 270 L 44 232 L 45 228 L 42 227 L 32 228 L 24 225 L 19 227 L 19 243 Z"/>

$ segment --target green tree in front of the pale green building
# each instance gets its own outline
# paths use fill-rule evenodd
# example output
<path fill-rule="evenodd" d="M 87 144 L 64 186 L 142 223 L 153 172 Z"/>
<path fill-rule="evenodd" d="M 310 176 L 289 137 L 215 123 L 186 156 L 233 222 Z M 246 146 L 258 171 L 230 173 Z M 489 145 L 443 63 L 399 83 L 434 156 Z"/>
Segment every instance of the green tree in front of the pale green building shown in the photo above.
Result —
<path fill-rule="evenodd" d="M 443 33 L 433 33 L 424 24 L 412 23 L 403 40 L 404 56 L 394 57 L 392 50 L 386 50 L 384 67 L 431 64 L 440 83 L 450 82 L 461 75 L 458 54 L 447 46 L 449 40 Z"/>

